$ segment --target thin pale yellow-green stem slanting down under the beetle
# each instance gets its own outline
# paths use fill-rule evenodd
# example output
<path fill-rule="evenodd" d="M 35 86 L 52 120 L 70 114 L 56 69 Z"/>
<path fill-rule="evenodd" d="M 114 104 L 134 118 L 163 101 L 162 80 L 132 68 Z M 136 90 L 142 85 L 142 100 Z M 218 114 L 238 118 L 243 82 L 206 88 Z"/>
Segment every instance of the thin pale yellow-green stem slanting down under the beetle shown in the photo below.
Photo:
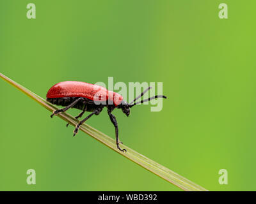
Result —
<path fill-rule="evenodd" d="M 24 94 L 29 96 L 31 99 L 35 100 L 40 105 L 44 106 L 47 110 L 53 112 L 54 110 L 58 109 L 56 108 L 56 106 L 52 105 L 51 103 L 48 103 L 47 101 L 45 101 L 45 99 L 41 98 L 40 96 L 37 96 L 35 93 L 29 91 L 25 87 L 22 87 L 22 85 L 18 84 L 17 82 L 14 82 L 10 78 L 4 76 L 2 73 L 0 73 L 0 78 L 3 78 L 3 80 L 13 85 L 13 87 L 19 89 L 19 91 L 24 92 Z M 72 124 L 72 126 L 76 126 L 79 122 L 77 119 L 75 119 L 68 113 L 60 113 L 58 114 L 58 117 L 65 120 L 69 124 Z M 84 133 L 87 133 L 88 135 L 92 136 L 93 138 L 103 143 L 110 149 L 114 150 L 118 154 L 121 154 L 127 159 L 133 161 L 134 163 L 139 164 L 146 170 L 151 171 L 152 173 L 156 174 L 162 179 L 174 184 L 180 189 L 183 189 L 184 191 L 207 191 L 206 189 L 204 189 L 204 187 L 198 186 L 197 184 L 191 182 L 190 180 L 180 176 L 179 174 L 173 172 L 172 170 L 169 170 L 168 168 L 162 166 L 161 164 L 158 164 L 155 161 L 148 159 L 147 157 L 143 156 L 142 154 L 132 150 L 131 148 L 125 145 L 122 145 L 122 147 L 127 149 L 127 152 L 121 152 L 120 150 L 116 149 L 115 140 L 113 140 L 113 138 L 110 138 L 104 133 L 98 131 L 97 129 L 88 126 L 87 124 L 83 124 L 80 129 Z"/>

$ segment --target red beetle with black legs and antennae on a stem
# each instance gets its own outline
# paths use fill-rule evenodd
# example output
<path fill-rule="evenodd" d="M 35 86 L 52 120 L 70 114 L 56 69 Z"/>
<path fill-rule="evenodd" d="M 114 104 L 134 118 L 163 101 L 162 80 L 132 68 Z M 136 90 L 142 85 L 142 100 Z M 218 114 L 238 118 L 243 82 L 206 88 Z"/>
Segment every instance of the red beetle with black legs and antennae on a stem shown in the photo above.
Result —
<path fill-rule="evenodd" d="M 119 108 L 122 109 L 122 112 L 125 113 L 125 115 L 128 117 L 130 115 L 130 108 L 132 106 L 156 98 L 166 98 L 166 96 L 157 95 L 136 102 L 145 94 L 145 92 L 151 88 L 152 87 L 148 87 L 145 89 L 145 91 L 141 92 L 141 94 L 131 103 L 127 103 L 123 100 L 122 95 L 113 91 L 108 91 L 108 89 L 100 85 L 89 84 L 86 82 L 66 81 L 53 85 L 47 92 L 46 97 L 49 103 L 65 106 L 65 108 L 61 108 L 52 112 L 51 117 L 58 115 L 58 113 L 66 112 L 69 108 L 77 108 L 82 110 L 82 112 L 76 116 L 76 119 L 82 117 L 84 112 L 92 112 L 83 120 L 79 121 L 76 128 L 74 129 L 74 136 L 77 134 L 80 126 L 90 117 L 92 117 L 92 115 L 99 115 L 104 107 L 108 108 L 109 118 L 115 126 L 116 147 L 122 152 L 126 152 L 125 149 L 121 149 L 119 146 L 119 144 L 122 142 L 120 142 L 118 138 L 118 125 L 116 117 L 112 114 L 112 112 L 115 108 Z"/>

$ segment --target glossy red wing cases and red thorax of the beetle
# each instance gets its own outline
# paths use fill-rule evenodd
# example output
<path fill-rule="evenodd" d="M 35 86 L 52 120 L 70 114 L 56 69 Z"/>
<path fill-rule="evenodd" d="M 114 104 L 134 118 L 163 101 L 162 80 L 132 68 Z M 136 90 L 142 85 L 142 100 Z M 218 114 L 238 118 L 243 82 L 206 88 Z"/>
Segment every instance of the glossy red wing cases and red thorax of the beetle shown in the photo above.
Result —
<path fill-rule="evenodd" d="M 108 89 L 95 84 L 86 82 L 67 81 L 55 84 L 47 92 L 47 98 L 63 97 L 84 97 L 92 101 L 106 101 L 111 99 L 115 106 L 120 105 L 123 97 Z"/>

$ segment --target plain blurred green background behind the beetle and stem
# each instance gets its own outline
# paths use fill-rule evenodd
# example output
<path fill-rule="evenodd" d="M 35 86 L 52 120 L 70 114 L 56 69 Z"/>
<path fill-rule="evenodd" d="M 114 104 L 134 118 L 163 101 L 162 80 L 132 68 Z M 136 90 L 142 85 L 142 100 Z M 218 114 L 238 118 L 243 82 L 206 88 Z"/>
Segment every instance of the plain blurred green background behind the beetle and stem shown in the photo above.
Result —
<path fill-rule="evenodd" d="M 36 19 L 26 18 L 35 3 Z M 218 5 L 228 4 L 228 19 Z M 163 82 L 161 112 L 115 111 L 125 145 L 210 191 L 255 189 L 255 1 L 0 1 L 0 71 L 57 82 Z M 0 190 L 180 191 L 0 80 Z M 70 110 L 76 115 L 79 111 Z M 106 110 L 88 124 L 115 137 Z M 26 171 L 36 170 L 36 185 Z M 218 171 L 228 171 L 228 185 Z"/>

